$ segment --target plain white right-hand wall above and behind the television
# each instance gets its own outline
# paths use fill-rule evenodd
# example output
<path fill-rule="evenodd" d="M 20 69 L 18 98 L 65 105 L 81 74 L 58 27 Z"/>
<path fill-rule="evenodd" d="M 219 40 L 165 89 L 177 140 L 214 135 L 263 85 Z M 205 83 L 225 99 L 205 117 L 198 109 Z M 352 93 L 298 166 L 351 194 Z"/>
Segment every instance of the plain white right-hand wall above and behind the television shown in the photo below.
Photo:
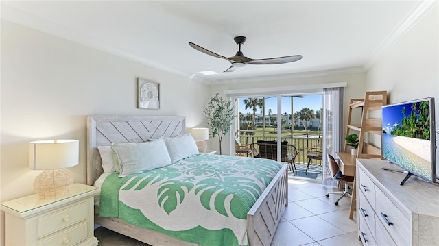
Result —
<path fill-rule="evenodd" d="M 387 90 L 388 103 L 434 97 L 436 131 L 439 131 L 438 5 L 366 73 L 366 90 Z M 438 137 L 436 134 L 436 139 Z M 436 156 L 439 157 L 439 149 L 436 149 Z M 439 177 L 439 167 L 437 173 Z"/>

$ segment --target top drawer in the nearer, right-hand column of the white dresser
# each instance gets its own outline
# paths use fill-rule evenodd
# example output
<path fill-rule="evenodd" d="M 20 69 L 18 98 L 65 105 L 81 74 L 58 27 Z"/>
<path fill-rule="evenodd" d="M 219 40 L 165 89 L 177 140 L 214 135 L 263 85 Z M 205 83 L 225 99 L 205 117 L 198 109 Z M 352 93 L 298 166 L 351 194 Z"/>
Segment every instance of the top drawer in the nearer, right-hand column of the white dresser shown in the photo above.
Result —
<path fill-rule="evenodd" d="M 375 195 L 377 198 L 375 213 L 379 218 L 377 224 L 382 223 L 397 245 L 408 245 L 410 242 L 410 220 L 396 208 L 381 190 L 375 190 Z"/>

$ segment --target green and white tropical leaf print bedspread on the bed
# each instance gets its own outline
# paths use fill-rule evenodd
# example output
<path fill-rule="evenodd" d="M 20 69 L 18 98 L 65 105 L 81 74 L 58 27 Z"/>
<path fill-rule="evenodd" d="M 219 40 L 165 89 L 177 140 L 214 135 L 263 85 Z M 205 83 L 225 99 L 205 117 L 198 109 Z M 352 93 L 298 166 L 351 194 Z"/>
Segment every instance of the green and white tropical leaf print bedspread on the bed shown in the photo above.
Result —
<path fill-rule="evenodd" d="M 102 184 L 99 215 L 199 245 L 248 245 L 247 212 L 280 169 L 268 159 L 199 154 L 112 174 Z"/>

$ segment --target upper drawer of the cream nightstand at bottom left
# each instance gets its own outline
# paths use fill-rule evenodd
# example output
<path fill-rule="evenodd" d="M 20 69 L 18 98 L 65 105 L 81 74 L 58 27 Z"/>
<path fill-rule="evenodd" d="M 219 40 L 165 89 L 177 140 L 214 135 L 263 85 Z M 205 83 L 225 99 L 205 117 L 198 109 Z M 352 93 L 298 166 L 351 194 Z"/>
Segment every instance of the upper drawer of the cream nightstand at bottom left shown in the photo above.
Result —
<path fill-rule="evenodd" d="M 78 223 L 88 217 L 88 202 L 84 201 L 75 206 L 51 212 L 38 218 L 37 231 L 38 238 L 47 236 L 58 230 L 62 230 L 69 225 Z"/>

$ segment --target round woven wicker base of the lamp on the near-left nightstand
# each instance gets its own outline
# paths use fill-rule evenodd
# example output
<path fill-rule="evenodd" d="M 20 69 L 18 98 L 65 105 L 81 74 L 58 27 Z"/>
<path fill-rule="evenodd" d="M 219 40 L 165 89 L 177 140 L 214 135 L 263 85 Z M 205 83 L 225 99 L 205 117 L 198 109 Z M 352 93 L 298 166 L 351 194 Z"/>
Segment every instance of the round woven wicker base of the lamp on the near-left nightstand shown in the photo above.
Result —
<path fill-rule="evenodd" d="M 69 169 L 45 170 L 34 180 L 34 190 L 42 198 L 65 195 L 73 185 L 73 173 Z"/>

